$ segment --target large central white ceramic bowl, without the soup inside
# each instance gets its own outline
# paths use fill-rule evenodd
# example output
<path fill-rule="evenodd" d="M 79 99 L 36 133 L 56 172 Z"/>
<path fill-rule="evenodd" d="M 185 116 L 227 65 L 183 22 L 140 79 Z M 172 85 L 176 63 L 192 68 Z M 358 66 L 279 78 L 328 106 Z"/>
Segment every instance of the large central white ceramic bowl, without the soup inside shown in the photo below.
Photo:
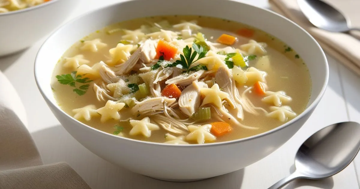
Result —
<path fill-rule="evenodd" d="M 278 37 L 296 50 L 309 67 L 312 94 L 306 110 L 276 129 L 249 138 L 213 144 L 168 145 L 121 138 L 96 130 L 59 108 L 51 91 L 50 78 L 64 51 L 82 37 L 109 24 L 159 14 L 220 17 L 249 24 Z M 266 157 L 291 138 L 309 118 L 324 93 L 328 74 L 325 55 L 309 33 L 278 14 L 230 0 L 135 0 L 101 8 L 59 28 L 45 41 L 35 60 L 35 78 L 41 94 L 77 141 L 109 162 L 163 180 L 219 176 Z"/>

